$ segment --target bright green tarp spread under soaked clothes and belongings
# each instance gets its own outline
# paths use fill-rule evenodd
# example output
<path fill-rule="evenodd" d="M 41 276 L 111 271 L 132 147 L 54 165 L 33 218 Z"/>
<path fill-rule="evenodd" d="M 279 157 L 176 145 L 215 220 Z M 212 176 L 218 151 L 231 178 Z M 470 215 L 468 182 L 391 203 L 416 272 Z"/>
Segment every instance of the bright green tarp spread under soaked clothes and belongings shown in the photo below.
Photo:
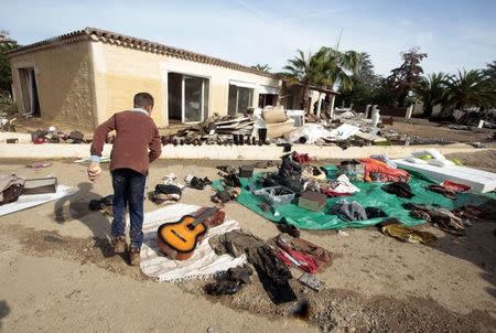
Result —
<path fill-rule="evenodd" d="M 330 180 L 335 179 L 335 173 L 337 169 L 335 166 L 326 166 L 327 175 Z M 289 224 L 292 224 L 301 229 L 342 229 L 346 227 L 365 227 L 369 225 L 375 225 L 381 222 L 384 218 L 373 218 L 366 221 L 356 222 L 345 222 L 337 217 L 336 215 L 326 214 L 330 207 L 334 205 L 339 198 L 346 198 L 347 201 L 356 201 L 362 206 L 368 207 L 379 207 L 389 217 L 396 217 L 401 221 L 407 226 L 413 226 L 424 223 L 424 221 L 416 219 L 409 216 L 409 211 L 405 210 L 401 204 L 411 202 L 417 204 L 439 204 L 442 207 L 453 210 L 465 204 L 478 205 L 488 201 L 490 195 L 476 195 L 476 194 L 457 194 L 457 200 L 451 200 L 442 194 L 431 192 L 425 190 L 428 184 L 432 181 L 423 178 L 420 174 L 411 174 L 411 180 L 409 182 L 414 196 L 412 198 L 398 197 L 395 194 L 386 193 L 380 189 L 382 183 L 365 183 L 365 182 L 354 182 L 360 192 L 355 193 L 353 196 L 334 197 L 328 198 L 327 203 L 320 213 L 311 212 L 298 206 L 298 198 L 293 201 L 292 204 L 283 205 L 277 207 L 278 216 L 274 216 L 271 212 L 266 213 L 258 206 L 259 203 L 263 202 L 262 196 L 256 196 L 250 191 L 247 190 L 246 185 L 252 183 L 255 179 L 260 178 L 261 174 L 255 174 L 252 179 L 240 179 L 242 184 L 241 194 L 238 196 L 237 201 L 254 211 L 255 213 L 263 216 L 265 218 L 272 222 L 280 222 L 281 218 L 285 218 Z M 212 186 L 216 190 L 223 190 L 222 180 L 213 182 Z"/>

